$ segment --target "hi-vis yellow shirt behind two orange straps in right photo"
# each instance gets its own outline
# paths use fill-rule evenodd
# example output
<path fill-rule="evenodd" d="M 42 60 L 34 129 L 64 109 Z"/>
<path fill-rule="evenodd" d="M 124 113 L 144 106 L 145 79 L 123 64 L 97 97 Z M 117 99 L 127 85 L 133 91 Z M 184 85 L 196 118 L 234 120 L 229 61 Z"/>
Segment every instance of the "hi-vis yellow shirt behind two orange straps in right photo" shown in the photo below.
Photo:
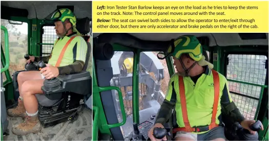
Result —
<path fill-rule="evenodd" d="M 219 74 L 219 104 L 217 108 L 216 124 L 219 124 L 219 116 L 221 114 L 221 103 L 231 103 L 232 98 L 226 87 L 226 78 Z M 187 103 L 187 113 L 191 127 L 206 126 L 211 124 L 211 117 L 214 103 L 214 81 L 212 70 L 206 67 L 203 73 L 194 84 L 190 76 L 183 77 L 185 97 Z M 169 82 L 169 88 L 165 99 L 175 101 L 175 110 L 177 124 L 179 127 L 185 127 L 182 116 L 182 109 L 179 95 L 178 75 L 174 74 Z M 206 131 L 205 131 L 206 132 Z M 196 133 L 196 132 L 194 132 Z M 199 132 L 201 134 L 204 132 Z"/>

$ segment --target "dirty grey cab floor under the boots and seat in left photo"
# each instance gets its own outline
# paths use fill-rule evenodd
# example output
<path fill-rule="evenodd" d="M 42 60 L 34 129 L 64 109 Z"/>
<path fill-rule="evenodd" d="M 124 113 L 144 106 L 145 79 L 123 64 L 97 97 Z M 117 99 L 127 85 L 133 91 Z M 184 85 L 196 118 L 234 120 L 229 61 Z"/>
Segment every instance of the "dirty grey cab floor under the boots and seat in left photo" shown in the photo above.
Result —
<path fill-rule="evenodd" d="M 84 108 L 78 118 L 71 122 L 60 123 L 43 128 L 36 134 L 15 135 L 12 126 L 23 122 L 21 117 L 9 117 L 9 135 L 4 140 L 91 140 L 92 139 L 92 111 Z"/>

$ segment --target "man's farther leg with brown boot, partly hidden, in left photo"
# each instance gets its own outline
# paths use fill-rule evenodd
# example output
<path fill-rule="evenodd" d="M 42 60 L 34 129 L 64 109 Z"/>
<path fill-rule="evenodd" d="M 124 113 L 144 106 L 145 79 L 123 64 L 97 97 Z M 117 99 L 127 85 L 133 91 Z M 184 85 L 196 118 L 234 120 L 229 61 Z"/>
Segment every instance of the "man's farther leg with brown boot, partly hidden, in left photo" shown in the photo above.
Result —
<path fill-rule="evenodd" d="M 7 114 L 11 117 L 24 117 L 25 116 L 25 107 L 23 103 L 23 93 L 22 93 L 22 85 L 27 80 L 34 79 L 42 79 L 42 75 L 39 71 L 23 71 L 20 72 L 17 76 L 18 80 L 18 90 L 19 90 L 19 98 L 18 98 L 18 106 L 13 109 L 8 109 Z"/>

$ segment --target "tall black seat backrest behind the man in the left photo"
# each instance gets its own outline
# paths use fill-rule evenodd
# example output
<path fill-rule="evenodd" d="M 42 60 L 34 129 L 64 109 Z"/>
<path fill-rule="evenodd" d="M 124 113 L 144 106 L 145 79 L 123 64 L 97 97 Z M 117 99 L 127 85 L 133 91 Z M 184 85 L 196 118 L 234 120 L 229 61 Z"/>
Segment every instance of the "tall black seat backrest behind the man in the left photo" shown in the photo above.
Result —
<path fill-rule="evenodd" d="M 87 67 L 88 67 L 90 55 L 91 55 L 91 44 L 88 42 L 90 36 L 87 35 L 90 32 L 90 18 L 85 17 L 85 18 L 77 19 L 76 29 L 78 30 L 79 33 L 81 33 L 83 35 L 82 37 L 85 39 L 85 41 L 87 43 L 87 47 L 88 47 L 87 53 L 86 53 L 85 65 L 82 69 L 82 70 L 86 71 Z"/>

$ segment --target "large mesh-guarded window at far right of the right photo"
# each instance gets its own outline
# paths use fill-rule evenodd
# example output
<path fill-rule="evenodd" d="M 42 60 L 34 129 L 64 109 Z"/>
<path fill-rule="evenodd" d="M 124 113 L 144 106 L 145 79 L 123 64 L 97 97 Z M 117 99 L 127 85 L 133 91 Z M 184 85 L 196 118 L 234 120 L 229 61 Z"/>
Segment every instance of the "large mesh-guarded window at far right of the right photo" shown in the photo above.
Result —
<path fill-rule="evenodd" d="M 264 85 L 266 56 L 230 54 L 227 65 L 227 79 L 240 82 Z M 254 119 L 259 102 L 261 87 L 242 83 L 229 82 L 229 90 L 237 108 L 246 119 Z"/>

